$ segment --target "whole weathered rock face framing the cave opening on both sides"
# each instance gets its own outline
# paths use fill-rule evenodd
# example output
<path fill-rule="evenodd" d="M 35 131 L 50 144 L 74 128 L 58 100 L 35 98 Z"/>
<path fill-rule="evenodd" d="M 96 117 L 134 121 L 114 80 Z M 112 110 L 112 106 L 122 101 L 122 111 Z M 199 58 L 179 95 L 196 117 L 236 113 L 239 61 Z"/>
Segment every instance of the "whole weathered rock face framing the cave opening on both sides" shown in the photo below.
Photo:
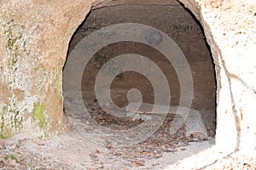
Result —
<path fill-rule="evenodd" d="M 256 150 L 256 2 L 180 2 L 201 22 L 212 50 L 218 84 L 217 145 L 224 150 Z M 1 137 L 20 131 L 37 136 L 61 132 L 61 73 L 68 42 L 92 6 L 108 3 L 0 3 Z"/>

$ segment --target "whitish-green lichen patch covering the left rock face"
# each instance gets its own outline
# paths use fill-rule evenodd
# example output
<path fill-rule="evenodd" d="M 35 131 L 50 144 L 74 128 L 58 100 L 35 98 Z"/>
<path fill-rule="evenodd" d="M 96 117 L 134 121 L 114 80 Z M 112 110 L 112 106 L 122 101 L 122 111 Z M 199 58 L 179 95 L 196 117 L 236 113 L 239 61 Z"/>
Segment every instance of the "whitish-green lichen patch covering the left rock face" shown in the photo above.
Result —
<path fill-rule="evenodd" d="M 39 101 L 44 100 L 36 92 L 42 86 L 44 87 L 44 83 L 39 83 L 38 87 L 35 87 L 35 82 L 42 82 L 42 79 L 45 79 L 33 77 L 33 72 L 36 72 L 34 65 L 37 62 L 37 56 L 31 50 L 33 36 L 31 31 L 26 29 L 26 23 L 9 18 L 5 12 L 0 20 L 4 55 L 0 60 L 3 65 L 0 70 L 0 90 L 3 92 L 0 99 L 0 137 L 6 138 L 20 131 L 35 133 L 33 131 L 37 126 L 39 127 L 39 130 L 36 130 L 38 135 L 44 136 L 49 131 L 49 123 L 42 124 L 41 119 L 38 124 L 32 123 L 34 120 L 31 117 L 32 111 L 37 111 L 34 106 L 38 106 Z"/>

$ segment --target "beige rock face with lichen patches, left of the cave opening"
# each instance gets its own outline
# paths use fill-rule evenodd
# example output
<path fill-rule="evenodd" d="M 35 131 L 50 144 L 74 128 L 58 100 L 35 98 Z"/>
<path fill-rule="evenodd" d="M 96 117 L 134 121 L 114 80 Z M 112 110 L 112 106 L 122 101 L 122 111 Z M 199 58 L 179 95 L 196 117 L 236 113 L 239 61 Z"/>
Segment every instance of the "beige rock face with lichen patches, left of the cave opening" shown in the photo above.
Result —
<path fill-rule="evenodd" d="M 21 130 L 45 136 L 64 126 L 62 66 L 69 39 L 90 10 L 90 2 L 80 3 L 1 3 L 2 137 Z"/>

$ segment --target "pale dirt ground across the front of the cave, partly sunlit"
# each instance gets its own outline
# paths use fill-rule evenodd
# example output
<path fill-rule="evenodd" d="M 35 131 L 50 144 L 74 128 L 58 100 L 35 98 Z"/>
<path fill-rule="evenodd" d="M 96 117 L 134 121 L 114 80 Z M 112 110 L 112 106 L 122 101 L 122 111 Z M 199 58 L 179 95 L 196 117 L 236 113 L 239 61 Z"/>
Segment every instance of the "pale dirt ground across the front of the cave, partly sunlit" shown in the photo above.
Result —
<path fill-rule="evenodd" d="M 152 154 L 154 159 L 141 152 L 131 162 L 75 131 L 49 140 L 20 133 L 0 140 L 0 169 L 256 169 L 256 157 L 240 152 L 225 155 L 213 143 L 214 139 L 191 142 L 161 156 Z"/>

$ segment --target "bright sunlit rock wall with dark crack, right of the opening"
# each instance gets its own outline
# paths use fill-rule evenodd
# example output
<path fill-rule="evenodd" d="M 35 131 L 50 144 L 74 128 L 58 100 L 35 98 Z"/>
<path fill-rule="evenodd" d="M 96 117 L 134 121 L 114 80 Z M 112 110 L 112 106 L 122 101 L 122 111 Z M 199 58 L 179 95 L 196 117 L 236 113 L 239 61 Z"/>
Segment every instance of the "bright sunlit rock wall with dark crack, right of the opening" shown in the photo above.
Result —
<path fill-rule="evenodd" d="M 256 150 L 255 1 L 181 1 L 201 21 L 218 82 L 216 144 Z"/>

